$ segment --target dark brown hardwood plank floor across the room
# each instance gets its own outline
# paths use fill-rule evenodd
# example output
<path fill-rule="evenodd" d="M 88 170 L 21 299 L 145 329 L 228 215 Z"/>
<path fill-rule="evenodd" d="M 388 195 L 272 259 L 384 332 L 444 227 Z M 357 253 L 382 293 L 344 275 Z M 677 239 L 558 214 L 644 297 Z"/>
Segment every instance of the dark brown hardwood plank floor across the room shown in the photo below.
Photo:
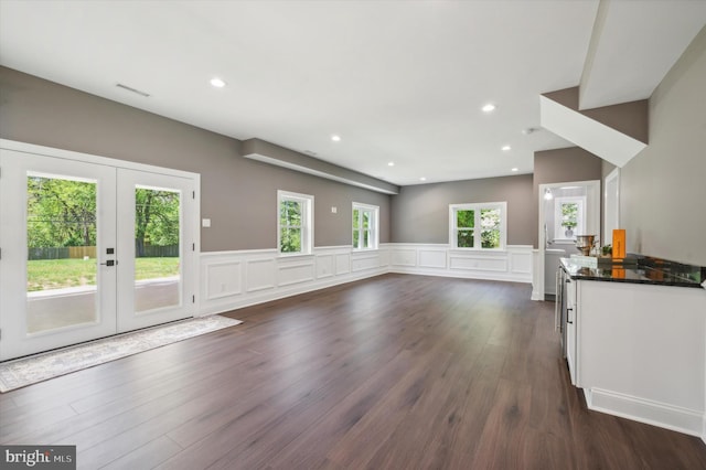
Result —
<path fill-rule="evenodd" d="M 0 442 L 81 469 L 705 469 L 695 437 L 589 412 L 527 285 L 385 275 L 0 395 Z"/>

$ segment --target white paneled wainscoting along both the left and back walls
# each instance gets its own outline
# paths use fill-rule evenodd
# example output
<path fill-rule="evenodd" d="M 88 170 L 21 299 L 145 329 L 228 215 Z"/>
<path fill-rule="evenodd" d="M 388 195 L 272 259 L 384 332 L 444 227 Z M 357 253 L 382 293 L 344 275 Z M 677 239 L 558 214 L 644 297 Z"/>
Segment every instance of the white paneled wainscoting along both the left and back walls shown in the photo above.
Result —
<path fill-rule="evenodd" d="M 382 244 L 314 248 L 280 256 L 276 249 L 201 254 L 200 314 L 220 313 L 386 273 L 532 282 L 532 247 L 464 252 L 435 244 Z"/>

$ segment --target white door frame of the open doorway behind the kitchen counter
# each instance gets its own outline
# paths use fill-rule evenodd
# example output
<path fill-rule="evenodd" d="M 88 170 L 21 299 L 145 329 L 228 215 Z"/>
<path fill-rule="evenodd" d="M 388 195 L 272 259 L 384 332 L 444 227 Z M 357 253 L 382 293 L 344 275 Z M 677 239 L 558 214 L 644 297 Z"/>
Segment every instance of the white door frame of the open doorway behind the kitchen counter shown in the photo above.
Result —
<path fill-rule="evenodd" d="M 601 211 L 600 211 L 600 180 L 590 180 L 590 181 L 570 181 L 564 183 L 547 183 L 539 184 L 538 199 L 537 204 L 539 206 L 539 218 L 538 218 L 538 245 L 537 245 L 537 259 L 536 259 L 536 268 L 533 269 L 533 281 L 532 281 L 532 300 L 544 300 L 544 255 L 546 250 L 546 236 L 544 233 L 544 193 L 547 189 L 554 190 L 563 186 L 581 186 L 586 188 L 586 232 L 590 234 L 600 234 L 600 222 L 601 222 Z"/>

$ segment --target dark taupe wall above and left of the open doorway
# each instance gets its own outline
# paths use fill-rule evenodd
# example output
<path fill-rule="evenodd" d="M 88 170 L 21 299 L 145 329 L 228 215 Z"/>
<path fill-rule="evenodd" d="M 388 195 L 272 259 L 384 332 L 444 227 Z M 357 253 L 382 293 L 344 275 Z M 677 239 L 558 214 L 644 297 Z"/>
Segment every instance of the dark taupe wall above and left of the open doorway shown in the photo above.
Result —
<path fill-rule="evenodd" d="M 543 150 L 534 153 L 532 195 L 533 246 L 539 241 L 539 184 L 602 180 L 603 160 L 579 147 Z"/>

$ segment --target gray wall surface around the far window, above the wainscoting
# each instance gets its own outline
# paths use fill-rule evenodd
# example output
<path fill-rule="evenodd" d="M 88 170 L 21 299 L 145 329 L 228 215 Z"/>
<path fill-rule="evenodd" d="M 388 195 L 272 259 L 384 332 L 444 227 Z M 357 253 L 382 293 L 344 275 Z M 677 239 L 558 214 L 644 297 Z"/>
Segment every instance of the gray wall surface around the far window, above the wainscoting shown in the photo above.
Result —
<path fill-rule="evenodd" d="M 531 174 L 403 186 L 392 200 L 392 242 L 449 243 L 449 204 L 500 201 L 507 202 L 507 244 L 530 245 L 537 225 Z"/>

